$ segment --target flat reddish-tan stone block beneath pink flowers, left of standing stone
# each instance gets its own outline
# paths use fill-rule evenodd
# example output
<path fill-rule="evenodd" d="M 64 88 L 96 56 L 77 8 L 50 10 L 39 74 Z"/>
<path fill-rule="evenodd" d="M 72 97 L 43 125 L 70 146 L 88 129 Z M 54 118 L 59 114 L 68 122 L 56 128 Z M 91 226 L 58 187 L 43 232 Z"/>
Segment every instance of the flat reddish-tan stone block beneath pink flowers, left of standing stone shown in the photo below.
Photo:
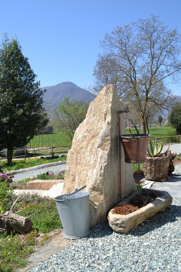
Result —
<path fill-rule="evenodd" d="M 49 190 L 53 185 L 62 182 L 64 180 L 33 180 L 27 182 L 26 189 Z"/>

